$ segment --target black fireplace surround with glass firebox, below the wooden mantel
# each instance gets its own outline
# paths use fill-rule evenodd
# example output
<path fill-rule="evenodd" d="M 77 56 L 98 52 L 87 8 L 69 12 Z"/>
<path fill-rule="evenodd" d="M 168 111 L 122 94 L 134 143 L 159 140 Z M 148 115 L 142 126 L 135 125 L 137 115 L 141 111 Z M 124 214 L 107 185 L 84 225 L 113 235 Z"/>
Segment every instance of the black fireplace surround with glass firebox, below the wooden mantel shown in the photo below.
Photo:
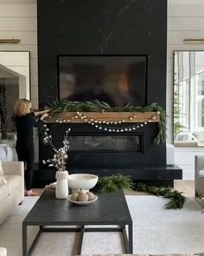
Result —
<path fill-rule="evenodd" d="M 70 149 L 67 169 L 109 169 L 163 166 L 163 145 L 154 145 L 157 134 L 157 123 L 150 123 L 137 128 L 134 132 L 112 133 L 100 131 L 89 124 L 83 123 L 48 123 L 56 148 L 62 147 L 63 135 L 67 128 Z M 51 147 L 41 145 L 40 164 L 42 160 L 53 156 Z M 165 161 L 165 160 L 164 160 Z M 41 164 L 41 168 L 45 168 Z M 79 172 L 79 171 L 78 171 Z"/>

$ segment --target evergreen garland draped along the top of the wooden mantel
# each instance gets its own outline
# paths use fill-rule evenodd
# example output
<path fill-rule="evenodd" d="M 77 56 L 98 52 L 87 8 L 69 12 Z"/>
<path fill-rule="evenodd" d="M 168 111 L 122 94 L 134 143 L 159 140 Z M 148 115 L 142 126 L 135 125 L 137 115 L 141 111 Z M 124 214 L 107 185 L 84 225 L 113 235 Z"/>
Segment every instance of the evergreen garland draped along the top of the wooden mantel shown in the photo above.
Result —
<path fill-rule="evenodd" d="M 166 112 L 157 103 L 151 103 L 149 106 L 133 106 L 131 104 L 126 104 L 124 106 L 114 106 L 111 107 L 107 102 L 102 102 L 99 100 L 86 101 L 86 102 L 71 102 L 71 101 L 61 101 L 55 100 L 49 103 L 48 108 L 51 111 L 51 115 L 56 117 L 63 112 L 72 111 L 89 111 L 89 112 L 150 112 L 156 111 L 160 113 L 159 123 L 158 123 L 158 134 L 154 139 L 155 144 L 166 141 Z"/>

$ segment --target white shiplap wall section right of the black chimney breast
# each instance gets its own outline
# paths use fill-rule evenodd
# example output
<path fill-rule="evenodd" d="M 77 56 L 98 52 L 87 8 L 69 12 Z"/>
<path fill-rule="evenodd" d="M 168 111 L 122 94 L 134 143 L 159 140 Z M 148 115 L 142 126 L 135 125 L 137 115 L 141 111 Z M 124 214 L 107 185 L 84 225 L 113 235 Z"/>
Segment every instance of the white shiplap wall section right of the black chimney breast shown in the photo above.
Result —
<path fill-rule="evenodd" d="M 204 44 L 186 44 L 184 38 L 204 38 L 204 0 L 168 0 L 167 115 L 168 143 L 173 142 L 173 51 L 198 49 Z M 194 155 L 204 148 L 176 147 L 175 164 L 183 169 L 183 179 L 194 179 Z"/>

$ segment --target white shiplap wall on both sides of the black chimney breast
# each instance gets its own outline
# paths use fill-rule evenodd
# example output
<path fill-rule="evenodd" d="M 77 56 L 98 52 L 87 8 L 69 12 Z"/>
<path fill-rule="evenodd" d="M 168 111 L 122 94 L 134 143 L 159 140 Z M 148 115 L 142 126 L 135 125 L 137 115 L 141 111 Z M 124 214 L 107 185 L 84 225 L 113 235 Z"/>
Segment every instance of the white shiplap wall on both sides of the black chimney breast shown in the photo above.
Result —
<path fill-rule="evenodd" d="M 43 1 L 43 0 L 42 0 Z M 0 50 L 31 53 L 31 99 L 38 107 L 36 0 L 0 0 L 0 38 L 21 38 L 19 44 L 0 44 Z M 204 44 L 184 44 L 183 38 L 204 38 L 204 0 L 168 0 L 167 114 L 168 143 L 172 143 L 173 51 L 203 49 Z M 35 141 L 35 161 L 38 160 Z M 183 179 L 194 179 L 194 154 L 204 148 L 175 148 L 175 164 L 183 168 Z"/>

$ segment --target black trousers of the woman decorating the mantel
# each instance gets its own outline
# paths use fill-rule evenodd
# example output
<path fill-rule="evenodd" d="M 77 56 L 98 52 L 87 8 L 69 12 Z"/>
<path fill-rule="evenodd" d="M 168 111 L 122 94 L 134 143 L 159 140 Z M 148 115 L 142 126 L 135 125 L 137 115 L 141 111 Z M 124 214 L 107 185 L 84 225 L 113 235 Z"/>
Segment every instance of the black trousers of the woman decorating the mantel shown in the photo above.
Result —
<path fill-rule="evenodd" d="M 30 142 L 27 144 L 16 142 L 16 153 L 18 156 L 18 161 L 23 161 L 26 165 L 25 181 L 26 189 L 30 190 L 32 188 L 33 182 L 33 167 L 34 167 L 34 143 Z"/>

